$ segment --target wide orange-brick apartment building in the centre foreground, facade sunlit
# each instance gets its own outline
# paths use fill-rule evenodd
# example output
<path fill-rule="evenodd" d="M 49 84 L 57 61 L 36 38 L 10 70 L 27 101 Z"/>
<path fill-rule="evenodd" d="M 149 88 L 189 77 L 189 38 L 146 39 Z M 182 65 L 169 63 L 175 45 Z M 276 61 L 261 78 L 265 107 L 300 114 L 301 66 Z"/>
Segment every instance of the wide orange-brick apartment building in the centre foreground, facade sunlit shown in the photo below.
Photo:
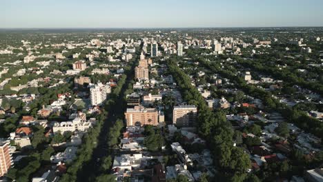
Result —
<path fill-rule="evenodd" d="M 158 112 L 155 108 L 144 108 L 142 105 L 128 108 L 124 113 L 127 126 L 158 125 Z"/>

